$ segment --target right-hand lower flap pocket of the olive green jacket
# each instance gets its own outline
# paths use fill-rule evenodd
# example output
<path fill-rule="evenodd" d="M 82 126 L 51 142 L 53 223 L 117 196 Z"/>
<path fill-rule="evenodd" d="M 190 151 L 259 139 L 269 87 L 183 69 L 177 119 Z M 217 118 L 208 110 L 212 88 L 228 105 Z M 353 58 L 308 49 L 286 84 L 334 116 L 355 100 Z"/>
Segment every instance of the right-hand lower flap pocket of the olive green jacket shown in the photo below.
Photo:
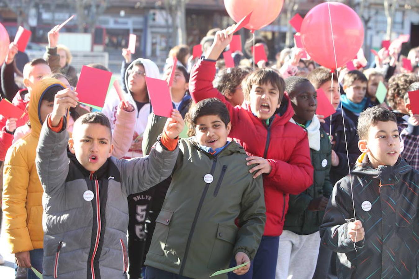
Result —
<path fill-rule="evenodd" d="M 214 246 L 209 256 L 208 268 L 214 271 L 226 269 L 233 256 L 237 229 L 218 224 Z"/>

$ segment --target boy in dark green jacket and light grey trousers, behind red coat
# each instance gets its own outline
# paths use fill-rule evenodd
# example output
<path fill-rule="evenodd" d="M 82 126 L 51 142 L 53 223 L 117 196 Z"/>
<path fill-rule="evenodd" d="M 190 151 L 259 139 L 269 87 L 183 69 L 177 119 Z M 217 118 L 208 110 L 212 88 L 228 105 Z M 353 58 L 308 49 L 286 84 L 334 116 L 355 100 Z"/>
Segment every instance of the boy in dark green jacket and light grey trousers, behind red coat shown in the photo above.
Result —
<path fill-rule="evenodd" d="M 320 247 L 318 227 L 333 188 L 329 179 L 331 144 L 315 115 L 317 92 L 308 79 L 288 77 L 285 90 L 295 112 L 290 121 L 307 131 L 314 183 L 301 194 L 290 195 L 275 278 L 313 278 Z"/>

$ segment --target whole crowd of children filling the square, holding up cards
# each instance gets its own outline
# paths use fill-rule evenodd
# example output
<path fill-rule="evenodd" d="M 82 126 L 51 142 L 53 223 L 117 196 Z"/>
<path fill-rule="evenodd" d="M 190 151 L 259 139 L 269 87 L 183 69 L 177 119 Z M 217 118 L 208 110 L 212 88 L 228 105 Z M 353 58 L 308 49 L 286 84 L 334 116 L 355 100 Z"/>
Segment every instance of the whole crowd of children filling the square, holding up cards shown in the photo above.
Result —
<path fill-rule="evenodd" d="M 238 67 L 223 68 L 232 27 L 212 30 L 201 57 L 176 46 L 161 75 L 123 49 L 124 101 L 111 92 L 91 112 L 57 27 L 23 88 L 16 44 L 1 69 L 2 98 L 25 111 L 23 122 L 0 112 L 1 237 L 16 278 L 37 278 L 33 267 L 46 279 L 190 279 L 239 265 L 216 278 L 419 278 L 408 94 L 419 77 L 397 63 L 400 49 L 364 70 L 331 71 L 297 48 L 256 69 L 234 53 Z M 145 77 L 168 80 L 172 68 L 167 118 Z M 328 117 L 316 113 L 320 89 Z"/>

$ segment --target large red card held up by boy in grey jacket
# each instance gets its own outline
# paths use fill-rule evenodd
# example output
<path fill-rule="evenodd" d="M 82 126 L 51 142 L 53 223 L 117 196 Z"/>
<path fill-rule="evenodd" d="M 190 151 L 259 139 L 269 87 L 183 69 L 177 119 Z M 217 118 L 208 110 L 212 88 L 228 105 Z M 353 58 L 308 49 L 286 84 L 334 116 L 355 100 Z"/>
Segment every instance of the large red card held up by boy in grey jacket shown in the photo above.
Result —
<path fill-rule="evenodd" d="M 103 108 L 111 77 L 111 72 L 83 66 L 76 88 L 78 101 Z"/>

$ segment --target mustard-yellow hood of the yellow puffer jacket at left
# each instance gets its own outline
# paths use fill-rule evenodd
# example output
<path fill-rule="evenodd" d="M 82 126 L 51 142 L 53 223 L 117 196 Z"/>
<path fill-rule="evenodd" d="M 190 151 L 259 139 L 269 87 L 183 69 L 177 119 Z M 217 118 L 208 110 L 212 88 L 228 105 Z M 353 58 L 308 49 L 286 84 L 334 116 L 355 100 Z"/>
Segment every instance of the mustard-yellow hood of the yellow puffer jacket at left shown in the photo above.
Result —
<path fill-rule="evenodd" d="M 65 85 L 59 80 L 46 78 L 40 80 L 31 92 L 31 99 L 29 100 L 29 120 L 31 121 L 31 134 L 36 137 L 39 137 L 42 128 L 40 112 L 41 100 L 44 97 L 45 92 L 54 86 L 60 86 L 62 89 L 65 89 Z"/>

